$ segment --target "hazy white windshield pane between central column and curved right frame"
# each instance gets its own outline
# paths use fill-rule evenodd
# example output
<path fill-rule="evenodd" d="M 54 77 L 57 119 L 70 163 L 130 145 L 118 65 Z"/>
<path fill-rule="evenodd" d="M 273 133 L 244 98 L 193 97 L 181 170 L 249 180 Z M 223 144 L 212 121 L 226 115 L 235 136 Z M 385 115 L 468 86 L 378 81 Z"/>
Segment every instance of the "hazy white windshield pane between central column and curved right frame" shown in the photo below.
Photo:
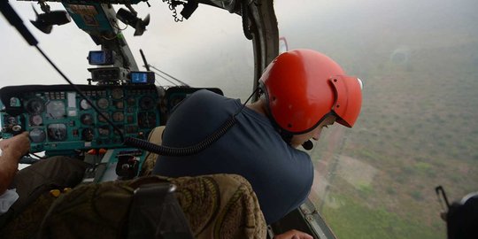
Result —
<path fill-rule="evenodd" d="M 151 20 L 143 37 L 128 38 L 132 46 L 145 50 L 150 65 L 191 87 L 220 88 L 233 98 L 246 99 L 251 94 L 252 42 L 243 35 L 239 15 L 200 4 L 189 19 L 176 23 L 165 5 L 155 11 L 159 19 Z M 152 10 L 144 8 L 144 12 Z M 135 58 L 141 60 L 139 52 Z M 166 86 L 172 84 L 158 75 L 156 78 Z"/>

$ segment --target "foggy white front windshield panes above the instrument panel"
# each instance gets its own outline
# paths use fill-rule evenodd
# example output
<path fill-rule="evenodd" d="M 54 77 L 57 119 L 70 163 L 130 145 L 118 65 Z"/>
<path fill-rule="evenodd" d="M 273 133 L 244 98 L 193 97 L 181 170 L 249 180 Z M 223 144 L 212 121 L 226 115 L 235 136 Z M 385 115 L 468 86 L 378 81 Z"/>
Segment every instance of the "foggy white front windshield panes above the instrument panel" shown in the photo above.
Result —
<path fill-rule="evenodd" d="M 62 4 L 48 3 L 51 10 L 65 10 Z M 142 36 L 134 36 L 135 29 L 120 22 L 123 35 L 135 56 L 141 71 L 143 61 L 139 50 L 143 50 L 148 64 L 155 66 L 156 84 L 163 87 L 181 85 L 164 73 L 190 87 L 220 88 L 226 96 L 246 99 L 253 86 L 254 58 L 252 43 L 243 35 L 242 19 L 210 5 L 201 4 L 196 12 L 182 22 L 175 22 L 173 12 L 166 3 L 151 2 L 134 5 L 138 17 L 150 14 L 150 24 Z M 34 4 L 36 10 L 40 7 Z M 87 84 L 91 74 L 89 50 L 100 50 L 72 21 L 63 26 L 54 26 L 50 35 L 36 29 L 29 19 L 35 19 L 32 5 L 12 2 L 24 24 L 40 42 L 39 46 L 66 73 L 74 83 Z M 120 5 L 113 5 L 120 9 Z M 178 7 L 178 11 L 181 8 Z M 0 87 L 22 84 L 66 84 L 66 81 L 42 58 L 33 47 L 29 47 L 21 36 L 0 17 L 2 55 L 0 67 L 3 80 Z M 159 71 L 164 72 L 160 73 Z M 166 78 L 166 79 L 165 79 Z M 8 81 L 6 79 L 9 79 Z"/>

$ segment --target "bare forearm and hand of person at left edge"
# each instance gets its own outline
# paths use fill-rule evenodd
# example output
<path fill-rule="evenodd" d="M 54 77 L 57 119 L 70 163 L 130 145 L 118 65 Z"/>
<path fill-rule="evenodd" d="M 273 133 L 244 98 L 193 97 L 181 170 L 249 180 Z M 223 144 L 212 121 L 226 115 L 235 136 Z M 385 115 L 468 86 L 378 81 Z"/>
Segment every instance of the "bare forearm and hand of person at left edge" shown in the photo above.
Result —
<path fill-rule="evenodd" d="M 0 195 L 12 183 L 19 168 L 19 159 L 30 150 L 28 133 L 24 132 L 10 139 L 0 141 Z"/>

